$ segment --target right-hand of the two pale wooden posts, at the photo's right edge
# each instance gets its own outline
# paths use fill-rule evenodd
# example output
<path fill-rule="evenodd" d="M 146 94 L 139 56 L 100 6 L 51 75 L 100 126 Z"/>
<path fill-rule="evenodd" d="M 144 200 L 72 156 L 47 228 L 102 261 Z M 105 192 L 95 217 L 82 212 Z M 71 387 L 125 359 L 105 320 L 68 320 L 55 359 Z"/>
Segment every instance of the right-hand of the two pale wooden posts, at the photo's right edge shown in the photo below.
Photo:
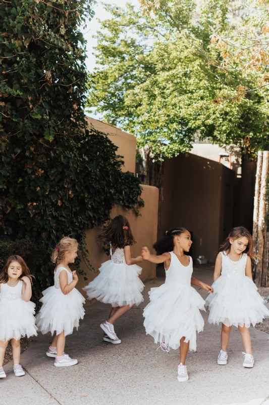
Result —
<path fill-rule="evenodd" d="M 257 287 L 261 286 L 261 277 L 262 277 L 264 217 L 266 211 L 265 193 L 268 175 L 268 161 L 269 161 L 269 152 L 267 150 L 264 150 L 262 154 L 262 168 L 261 168 L 260 196 L 259 196 L 259 210 L 258 210 L 257 255 L 259 256 L 259 258 L 258 263 L 256 265 L 256 277 L 255 277 L 255 284 Z"/>

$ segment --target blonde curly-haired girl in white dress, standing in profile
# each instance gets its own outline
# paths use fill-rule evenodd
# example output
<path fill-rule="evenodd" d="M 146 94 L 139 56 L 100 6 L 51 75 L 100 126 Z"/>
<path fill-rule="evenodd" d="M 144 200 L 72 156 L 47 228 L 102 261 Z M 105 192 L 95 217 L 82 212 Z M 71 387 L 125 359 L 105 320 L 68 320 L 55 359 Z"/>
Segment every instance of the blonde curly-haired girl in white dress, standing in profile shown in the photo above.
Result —
<path fill-rule="evenodd" d="M 83 319 L 84 297 L 75 288 L 78 282 L 76 271 L 71 271 L 69 264 L 77 257 L 78 242 L 68 236 L 60 240 L 53 250 L 51 259 L 57 263 L 54 272 L 54 286 L 43 291 L 41 309 L 36 317 L 38 330 L 45 334 L 55 333 L 46 355 L 55 357 L 56 367 L 74 366 L 78 360 L 64 353 L 66 336 L 73 333 Z"/>

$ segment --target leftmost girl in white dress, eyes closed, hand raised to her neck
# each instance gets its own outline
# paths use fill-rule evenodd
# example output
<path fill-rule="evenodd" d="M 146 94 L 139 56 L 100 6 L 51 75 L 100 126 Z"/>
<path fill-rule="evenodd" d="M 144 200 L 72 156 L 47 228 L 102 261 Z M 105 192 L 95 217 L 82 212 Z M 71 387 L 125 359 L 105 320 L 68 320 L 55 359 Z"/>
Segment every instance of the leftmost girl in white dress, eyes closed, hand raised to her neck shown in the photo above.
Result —
<path fill-rule="evenodd" d="M 6 377 L 3 362 L 9 340 L 15 376 L 25 374 L 20 365 L 20 339 L 37 335 L 35 304 L 30 301 L 31 281 L 32 276 L 25 261 L 18 255 L 11 256 L 0 272 L 0 378 Z"/>

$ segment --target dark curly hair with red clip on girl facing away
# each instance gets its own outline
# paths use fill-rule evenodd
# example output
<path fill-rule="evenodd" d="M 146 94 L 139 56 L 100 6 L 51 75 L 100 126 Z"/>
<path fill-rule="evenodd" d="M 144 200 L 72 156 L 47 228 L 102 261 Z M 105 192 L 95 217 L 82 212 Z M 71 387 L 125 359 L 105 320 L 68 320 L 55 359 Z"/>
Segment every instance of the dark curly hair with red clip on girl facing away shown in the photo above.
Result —
<path fill-rule="evenodd" d="M 129 221 L 123 215 L 117 215 L 113 218 L 109 225 L 103 228 L 99 237 L 105 245 L 111 244 L 114 248 L 120 249 L 136 243 Z"/>

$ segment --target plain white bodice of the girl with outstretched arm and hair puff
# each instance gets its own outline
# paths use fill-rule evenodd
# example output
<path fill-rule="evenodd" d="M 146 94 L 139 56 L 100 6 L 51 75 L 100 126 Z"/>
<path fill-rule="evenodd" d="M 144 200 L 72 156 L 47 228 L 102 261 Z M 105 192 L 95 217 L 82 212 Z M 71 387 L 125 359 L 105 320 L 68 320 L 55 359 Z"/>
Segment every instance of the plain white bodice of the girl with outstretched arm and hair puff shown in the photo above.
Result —
<path fill-rule="evenodd" d="M 193 271 L 192 258 L 190 257 L 190 263 L 188 266 L 183 266 L 175 253 L 170 252 L 170 254 L 171 263 L 169 269 L 166 271 L 166 283 L 190 287 Z"/>

